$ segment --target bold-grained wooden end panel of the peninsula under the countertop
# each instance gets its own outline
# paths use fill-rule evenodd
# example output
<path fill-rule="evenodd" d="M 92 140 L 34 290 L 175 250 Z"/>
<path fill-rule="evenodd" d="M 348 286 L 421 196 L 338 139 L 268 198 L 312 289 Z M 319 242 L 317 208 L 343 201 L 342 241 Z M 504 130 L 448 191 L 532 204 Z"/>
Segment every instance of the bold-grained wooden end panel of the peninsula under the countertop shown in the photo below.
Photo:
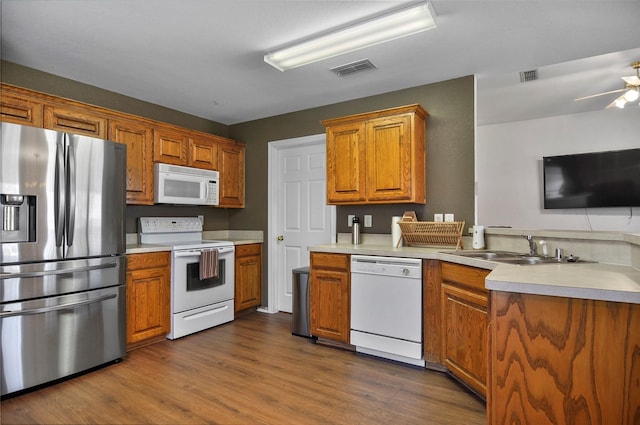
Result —
<path fill-rule="evenodd" d="M 640 305 L 491 292 L 489 424 L 640 423 Z"/>

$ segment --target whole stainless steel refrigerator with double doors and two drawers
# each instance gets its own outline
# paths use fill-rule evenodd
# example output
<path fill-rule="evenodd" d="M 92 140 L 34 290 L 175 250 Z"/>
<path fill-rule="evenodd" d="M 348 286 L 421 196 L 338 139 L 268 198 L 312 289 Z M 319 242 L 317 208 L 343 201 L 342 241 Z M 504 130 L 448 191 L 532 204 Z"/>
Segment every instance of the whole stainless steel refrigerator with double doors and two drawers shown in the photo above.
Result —
<path fill-rule="evenodd" d="M 2 123 L 2 396 L 126 350 L 126 147 Z"/>

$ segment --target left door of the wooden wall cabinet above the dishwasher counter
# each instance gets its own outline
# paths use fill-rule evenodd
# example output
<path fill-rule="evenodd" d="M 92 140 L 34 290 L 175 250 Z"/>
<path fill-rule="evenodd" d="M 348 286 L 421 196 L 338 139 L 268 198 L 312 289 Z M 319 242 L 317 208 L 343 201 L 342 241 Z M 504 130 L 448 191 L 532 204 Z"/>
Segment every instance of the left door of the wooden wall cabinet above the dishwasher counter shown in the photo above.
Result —
<path fill-rule="evenodd" d="M 364 201 L 365 126 L 348 123 L 327 127 L 327 200 Z M 331 141 L 331 143 L 329 143 Z"/>

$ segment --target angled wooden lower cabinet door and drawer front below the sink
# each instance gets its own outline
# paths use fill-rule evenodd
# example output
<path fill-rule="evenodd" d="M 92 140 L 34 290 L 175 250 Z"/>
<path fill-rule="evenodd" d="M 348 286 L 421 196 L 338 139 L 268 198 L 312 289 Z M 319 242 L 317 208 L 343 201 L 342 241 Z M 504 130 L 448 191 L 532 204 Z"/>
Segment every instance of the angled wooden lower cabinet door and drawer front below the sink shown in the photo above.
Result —
<path fill-rule="evenodd" d="M 481 396 L 487 382 L 488 270 L 441 263 L 441 359 Z"/>

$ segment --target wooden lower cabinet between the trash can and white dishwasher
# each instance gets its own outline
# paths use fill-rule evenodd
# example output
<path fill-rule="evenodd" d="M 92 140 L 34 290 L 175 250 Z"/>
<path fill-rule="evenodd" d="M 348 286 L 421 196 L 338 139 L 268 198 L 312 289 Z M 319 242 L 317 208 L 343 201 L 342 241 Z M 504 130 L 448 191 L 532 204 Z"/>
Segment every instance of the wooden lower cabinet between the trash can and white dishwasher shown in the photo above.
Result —
<path fill-rule="evenodd" d="M 347 254 L 311 253 L 311 335 L 349 343 L 350 261 Z"/>

